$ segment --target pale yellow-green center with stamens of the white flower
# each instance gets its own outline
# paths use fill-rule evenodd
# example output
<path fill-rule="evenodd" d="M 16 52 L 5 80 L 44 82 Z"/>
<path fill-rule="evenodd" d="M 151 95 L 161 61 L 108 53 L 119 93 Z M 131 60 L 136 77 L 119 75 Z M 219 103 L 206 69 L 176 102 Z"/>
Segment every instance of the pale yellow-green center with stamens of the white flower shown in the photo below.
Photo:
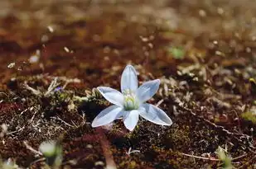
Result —
<path fill-rule="evenodd" d="M 138 109 L 139 101 L 133 91 L 126 90 L 123 92 L 123 96 L 124 96 L 124 103 L 123 103 L 124 110 L 137 110 Z"/>

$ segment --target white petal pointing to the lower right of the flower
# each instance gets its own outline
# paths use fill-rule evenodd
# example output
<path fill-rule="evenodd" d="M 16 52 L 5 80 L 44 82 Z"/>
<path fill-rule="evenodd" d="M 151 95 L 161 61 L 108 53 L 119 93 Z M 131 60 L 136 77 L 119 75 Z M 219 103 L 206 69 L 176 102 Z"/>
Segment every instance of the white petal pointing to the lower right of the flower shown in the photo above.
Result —
<path fill-rule="evenodd" d="M 151 121 L 155 124 L 161 124 L 161 125 L 171 125 L 172 121 L 170 117 L 161 109 L 159 109 L 157 106 L 153 106 L 151 104 L 143 104 L 140 107 L 140 114 L 142 118 Z"/>

